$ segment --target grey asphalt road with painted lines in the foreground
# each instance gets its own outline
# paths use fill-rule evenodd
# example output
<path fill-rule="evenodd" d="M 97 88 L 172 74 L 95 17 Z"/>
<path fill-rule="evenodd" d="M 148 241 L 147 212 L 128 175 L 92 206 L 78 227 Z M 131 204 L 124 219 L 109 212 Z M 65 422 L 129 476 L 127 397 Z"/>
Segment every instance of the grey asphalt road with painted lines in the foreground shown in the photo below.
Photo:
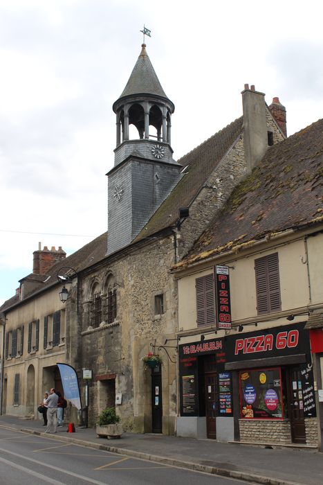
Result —
<path fill-rule="evenodd" d="M 1 485 L 246 485 L 0 428 Z"/>

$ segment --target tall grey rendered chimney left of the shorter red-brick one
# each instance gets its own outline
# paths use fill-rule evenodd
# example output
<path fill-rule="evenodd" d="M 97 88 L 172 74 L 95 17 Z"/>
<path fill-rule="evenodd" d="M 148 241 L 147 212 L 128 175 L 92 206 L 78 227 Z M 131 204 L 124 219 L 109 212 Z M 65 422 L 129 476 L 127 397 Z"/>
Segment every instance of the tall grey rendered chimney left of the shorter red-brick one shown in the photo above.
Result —
<path fill-rule="evenodd" d="M 268 148 L 265 94 L 255 91 L 255 86 L 244 85 L 243 106 L 243 143 L 248 172 L 264 157 Z"/>

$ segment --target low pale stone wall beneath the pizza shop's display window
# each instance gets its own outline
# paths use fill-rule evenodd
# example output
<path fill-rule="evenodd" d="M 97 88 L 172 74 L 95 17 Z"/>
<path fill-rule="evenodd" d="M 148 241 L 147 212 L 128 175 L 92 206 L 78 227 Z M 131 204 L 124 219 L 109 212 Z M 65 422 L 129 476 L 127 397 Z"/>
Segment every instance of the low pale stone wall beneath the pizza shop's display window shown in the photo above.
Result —
<path fill-rule="evenodd" d="M 265 419 L 239 419 L 240 441 L 249 443 L 292 442 L 289 421 L 266 421 Z"/>

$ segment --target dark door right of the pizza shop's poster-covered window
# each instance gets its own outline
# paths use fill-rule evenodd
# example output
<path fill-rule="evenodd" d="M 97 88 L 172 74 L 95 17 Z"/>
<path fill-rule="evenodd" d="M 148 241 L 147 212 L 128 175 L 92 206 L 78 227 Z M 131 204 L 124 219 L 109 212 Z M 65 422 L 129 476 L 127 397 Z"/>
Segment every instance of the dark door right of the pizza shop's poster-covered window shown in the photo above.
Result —
<path fill-rule="evenodd" d="M 302 376 L 299 370 L 290 369 L 288 384 L 288 408 L 292 441 L 293 443 L 306 443 Z"/>

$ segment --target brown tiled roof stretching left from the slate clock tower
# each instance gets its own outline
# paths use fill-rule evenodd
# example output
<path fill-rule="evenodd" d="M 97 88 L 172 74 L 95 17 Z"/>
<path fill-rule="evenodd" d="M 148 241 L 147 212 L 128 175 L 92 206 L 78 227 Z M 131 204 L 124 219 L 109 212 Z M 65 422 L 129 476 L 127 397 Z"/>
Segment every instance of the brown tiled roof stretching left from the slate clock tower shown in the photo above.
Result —
<path fill-rule="evenodd" d="M 34 277 L 35 281 L 39 281 L 39 285 L 35 284 L 33 286 L 33 290 L 31 290 L 28 294 L 25 294 L 25 299 L 33 296 L 33 294 L 39 292 L 40 290 L 46 290 L 46 288 L 50 288 L 50 286 L 57 284 L 57 272 L 59 268 L 63 266 L 69 266 L 72 267 L 73 270 L 75 270 L 76 272 L 80 272 L 86 267 L 98 263 L 98 261 L 104 258 L 106 253 L 107 233 L 105 232 L 101 234 L 101 236 L 99 236 L 98 238 L 95 238 L 93 241 L 91 241 L 91 243 L 86 244 L 85 246 L 81 247 L 81 249 L 71 254 L 71 256 L 68 256 L 67 258 L 59 261 L 58 263 L 55 263 L 55 265 L 50 267 L 46 274 L 45 281 L 44 275 L 28 275 L 28 280 Z M 8 310 L 8 308 L 15 305 L 16 303 L 19 303 L 19 294 L 5 301 L 5 303 L 3 303 L 3 305 L 0 307 L 0 312 Z"/>

